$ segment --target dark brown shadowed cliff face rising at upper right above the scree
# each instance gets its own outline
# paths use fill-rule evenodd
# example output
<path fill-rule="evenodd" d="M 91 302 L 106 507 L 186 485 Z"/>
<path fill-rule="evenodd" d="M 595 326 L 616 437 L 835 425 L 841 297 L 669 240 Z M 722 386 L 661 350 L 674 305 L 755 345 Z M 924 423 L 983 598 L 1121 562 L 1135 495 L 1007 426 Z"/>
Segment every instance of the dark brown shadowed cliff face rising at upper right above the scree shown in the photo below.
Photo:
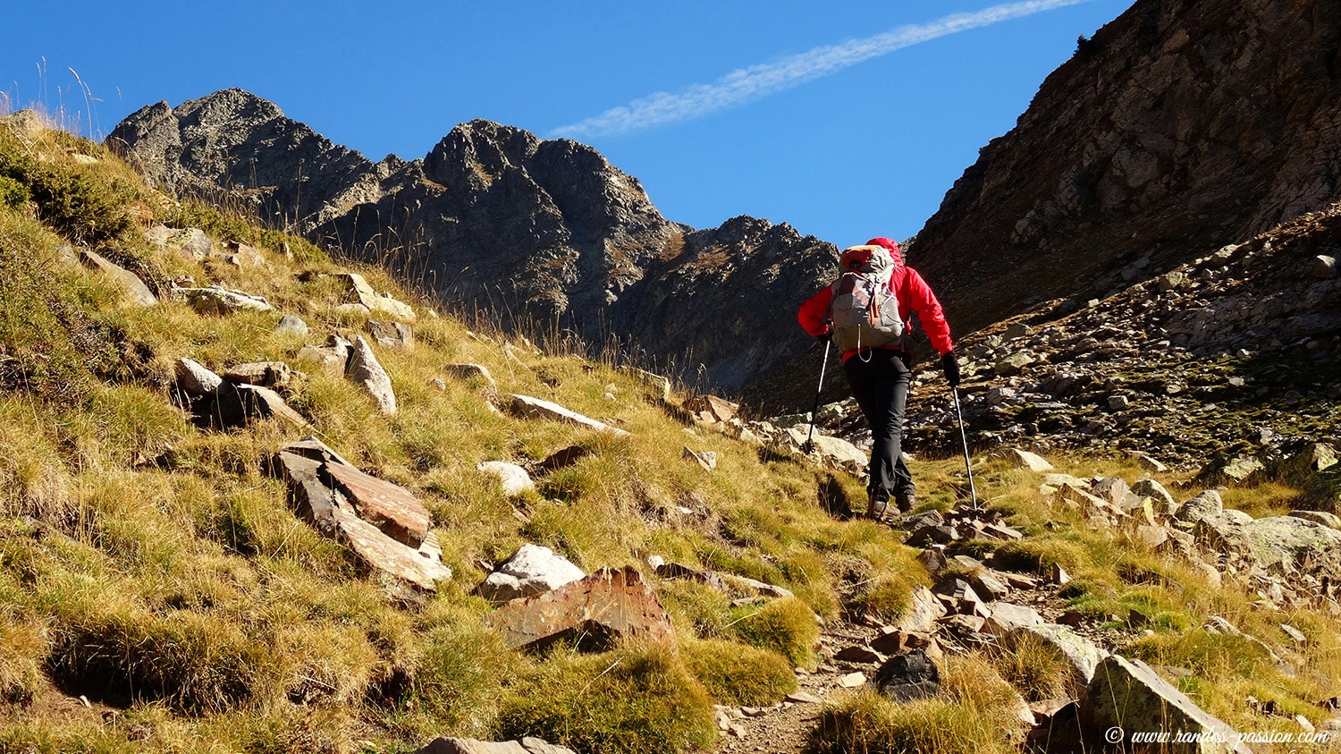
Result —
<path fill-rule="evenodd" d="M 1341 199 L 1341 7 L 1139 0 L 1053 72 L 917 236 L 959 331 L 1172 270 Z"/>

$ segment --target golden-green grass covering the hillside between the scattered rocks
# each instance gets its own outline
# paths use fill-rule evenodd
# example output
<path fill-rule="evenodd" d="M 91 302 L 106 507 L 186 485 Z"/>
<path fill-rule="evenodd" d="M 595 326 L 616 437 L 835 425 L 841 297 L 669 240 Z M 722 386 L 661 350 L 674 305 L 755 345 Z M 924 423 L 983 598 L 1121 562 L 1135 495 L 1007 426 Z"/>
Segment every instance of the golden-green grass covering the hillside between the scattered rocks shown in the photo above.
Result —
<path fill-rule="evenodd" d="M 266 266 L 161 252 L 141 232 L 153 221 L 256 246 Z M 98 250 L 160 292 L 189 276 L 264 295 L 278 311 L 200 315 L 166 298 L 137 307 L 64 262 L 64 244 Z M 894 618 L 928 582 L 890 529 L 827 513 L 861 498 L 860 480 L 687 427 L 607 364 L 473 333 L 385 271 L 361 268 L 418 311 L 412 350 L 378 349 L 400 404 L 381 415 L 341 376 L 295 360 L 304 337 L 275 333 L 279 313 L 302 317 L 314 343 L 363 331 L 366 317 L 339 309 L 339 286 L 304 275 L 342 268 L 300 239 L 157 195 L 97 145 L 16 118 L 0 125 L 0 750 L 412 751 L 436 735 L 536 735 L 583 753 L 701 750 L 715 742 L 713 702 L 772 703 L 794 688 L 790 668 L 821 661 L 821 621 Z M 180 357 L 216 370 L 264 360 L 302 370 L 290 404 L 350 462 L 426 503 L 455 578 L 421 600 L 390 596 L 296 519 L 282 483 L 263 474 L 298 432 L 272 421 L 198 429 L 172 397 Z M 484 365 L 502 392 L 558 401 L 630 436 L 500 415 L 488 385 L 443 373 L 451 362 Z M 476 471 L 570 445 L 591 452 L 518 499 Z M 717 453 L 716 470 L 683 457 L 687 445 Z M 948 507 L 955 468 L 919 464 L 924 499 Z M 1289 678 L 1255 645 L 1200 631 L 1207 616 L 1227 614 L 1283 644 L 1281 617 L 1250 596 L 1050 510 L 1021 472 L 986 464 L 980 475 L 992 504 L 1030 534 L 1008 554 L 1037 569 L 1065 565 L 1077 576 L 1065 598 L 1080 609 L 1153 617 L 1148 633 L 1112 625 L 1114 645 L 1188 668 L 1184 690 L 1240 727 L 1294 724 L 1258 716 L 1250 694 L 1326 716 L 1317 702 L 1341 678 L 1336 620 L 1287 616 L 1309 636 L 1291 652 L 1310 668 Z M 679 652 L 522 655 L 483 627 L 491 606 L 471 592 L 524 542 L 589 572 L 649 572 L 657 554 L 797 597 L 734 601 L 744 594 L 645 573 Z M 1019 724 L 1006 680 L 1042 696 L 1057 684 L 1050 674 L 1047 657 L 956 656 L 943 699 L 839 700 L 815 750 L 1007 750 L 1019 737 L 1000 734 Z M 80 696 L 89 706 L 70 703 Z"/>

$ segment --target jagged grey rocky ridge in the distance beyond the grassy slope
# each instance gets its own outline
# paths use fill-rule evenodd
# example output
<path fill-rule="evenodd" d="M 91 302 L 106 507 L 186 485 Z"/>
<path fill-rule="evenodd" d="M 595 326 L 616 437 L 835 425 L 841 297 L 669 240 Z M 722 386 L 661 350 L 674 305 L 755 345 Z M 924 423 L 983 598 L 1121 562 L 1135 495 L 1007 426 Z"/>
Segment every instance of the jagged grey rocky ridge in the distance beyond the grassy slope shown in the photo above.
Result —
<path fill-rule="evenodd" d="M 633 342 L 719 390 L 809 343 L 793 313 L 834 259 L 830 244 L 764 220 L 670 223 L 594 149 L 487 121 L 457 126 L 422 160 L 374 164 L 225 90 L 143 107 L 109 144 L 170 191 L 248 201 L 463 311 Z"/>

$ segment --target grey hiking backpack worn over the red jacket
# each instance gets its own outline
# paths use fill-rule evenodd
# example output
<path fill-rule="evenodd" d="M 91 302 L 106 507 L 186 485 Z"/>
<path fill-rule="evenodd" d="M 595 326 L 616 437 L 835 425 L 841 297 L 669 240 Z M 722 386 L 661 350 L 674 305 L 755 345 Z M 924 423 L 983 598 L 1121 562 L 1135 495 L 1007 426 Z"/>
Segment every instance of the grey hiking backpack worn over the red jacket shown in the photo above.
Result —
<path fill-rule="evenodd" d="M 893 266 L 884 247 L 843 250 L 829 302 L 833 343 L 839 352 L 886 346 L 902 338 L 904 319 L 888 284 Z"/>

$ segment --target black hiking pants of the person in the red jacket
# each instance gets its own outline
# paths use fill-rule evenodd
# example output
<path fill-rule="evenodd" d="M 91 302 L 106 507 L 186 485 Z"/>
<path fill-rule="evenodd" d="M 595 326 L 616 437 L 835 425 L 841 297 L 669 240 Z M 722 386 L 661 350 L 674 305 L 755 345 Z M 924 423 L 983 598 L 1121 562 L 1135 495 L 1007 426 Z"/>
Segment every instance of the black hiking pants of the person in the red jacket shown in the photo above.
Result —
<path fill-rule="evenodd" d="M 893 349 L 872 349 L 842 362 L 852 396 L 870 427 L 870 483 L 868 492 L 892 499 L 912 492 L 913 478 L 902 455 L 904 407 L 912 369 L 908 357 Z"/>

